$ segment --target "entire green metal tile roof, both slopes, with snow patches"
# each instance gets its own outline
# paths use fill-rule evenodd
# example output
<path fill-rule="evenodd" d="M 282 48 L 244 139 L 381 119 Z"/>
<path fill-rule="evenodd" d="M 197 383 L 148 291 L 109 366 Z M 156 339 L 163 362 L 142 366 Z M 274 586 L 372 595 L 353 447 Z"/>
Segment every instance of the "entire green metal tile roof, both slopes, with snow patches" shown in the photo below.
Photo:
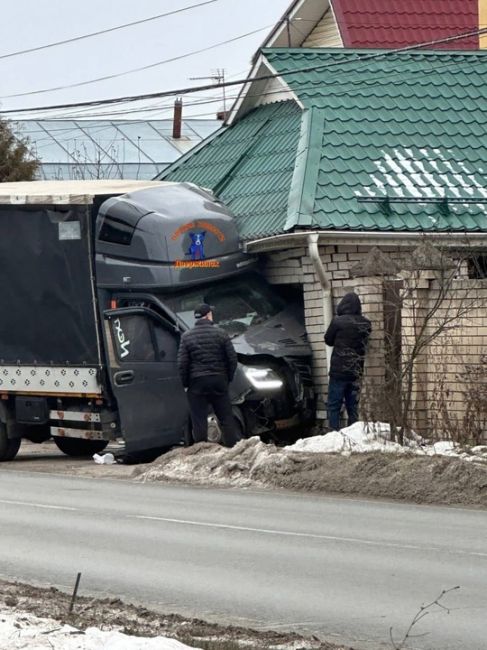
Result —
<path fill-rule="evenodd" d="M 256 108 L 165 178 L 211 187 L 247 239 L 301 227 L 487 230 L 487 52 L 264 56 L 304 110 Z"/>

